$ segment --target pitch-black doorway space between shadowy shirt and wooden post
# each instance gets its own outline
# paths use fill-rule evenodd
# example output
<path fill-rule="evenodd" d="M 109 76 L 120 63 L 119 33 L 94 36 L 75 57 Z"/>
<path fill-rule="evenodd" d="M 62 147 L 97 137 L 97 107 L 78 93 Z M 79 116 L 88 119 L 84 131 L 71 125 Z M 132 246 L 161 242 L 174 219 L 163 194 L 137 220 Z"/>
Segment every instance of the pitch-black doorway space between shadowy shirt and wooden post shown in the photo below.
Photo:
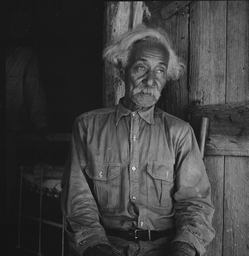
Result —
<path fill-rule="evenodd" d="M 100 1 L 10 1 L 9 24 L 17 44 L 38 56 L 53 132 L 71 132 L 78 115 L 102 108 L 102 26 Z M 26 17 L 24 20 L 23 17 Z M 11 46 L 16 43 L 10 40 Z"/>

